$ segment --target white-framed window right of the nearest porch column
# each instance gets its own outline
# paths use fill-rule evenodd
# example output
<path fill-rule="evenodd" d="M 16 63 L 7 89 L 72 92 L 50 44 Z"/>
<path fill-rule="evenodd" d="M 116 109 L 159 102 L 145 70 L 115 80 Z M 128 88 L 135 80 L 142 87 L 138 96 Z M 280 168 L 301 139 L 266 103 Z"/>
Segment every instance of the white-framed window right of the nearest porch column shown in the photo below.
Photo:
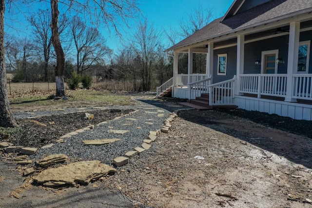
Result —
<path fill-rule="evenodd" d="M 310 42 L 311 41 L 299 42 L 298 73 L 309 72 Z"/>

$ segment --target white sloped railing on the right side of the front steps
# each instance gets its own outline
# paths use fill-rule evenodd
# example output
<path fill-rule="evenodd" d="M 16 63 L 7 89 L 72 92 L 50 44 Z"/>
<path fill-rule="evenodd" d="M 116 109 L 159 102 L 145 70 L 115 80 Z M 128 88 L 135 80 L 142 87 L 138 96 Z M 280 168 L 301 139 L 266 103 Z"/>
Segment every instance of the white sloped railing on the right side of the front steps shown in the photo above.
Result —
<path fill-rule="evenodd" d="M 236 75 L 231 80 L 209 85 L 209 105 L 233 105 Z"/>

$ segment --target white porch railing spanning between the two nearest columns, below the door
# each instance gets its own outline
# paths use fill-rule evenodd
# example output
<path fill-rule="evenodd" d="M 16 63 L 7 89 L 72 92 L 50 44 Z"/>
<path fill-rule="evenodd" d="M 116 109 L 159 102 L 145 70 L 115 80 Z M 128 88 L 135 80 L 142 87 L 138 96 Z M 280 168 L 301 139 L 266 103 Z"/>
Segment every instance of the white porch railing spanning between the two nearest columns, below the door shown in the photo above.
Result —
<path fill-rule="evenodd" d="M 239 92 L 270 95 L 276 97 L 286 96 L 287 74 L 240 74 Z"/>

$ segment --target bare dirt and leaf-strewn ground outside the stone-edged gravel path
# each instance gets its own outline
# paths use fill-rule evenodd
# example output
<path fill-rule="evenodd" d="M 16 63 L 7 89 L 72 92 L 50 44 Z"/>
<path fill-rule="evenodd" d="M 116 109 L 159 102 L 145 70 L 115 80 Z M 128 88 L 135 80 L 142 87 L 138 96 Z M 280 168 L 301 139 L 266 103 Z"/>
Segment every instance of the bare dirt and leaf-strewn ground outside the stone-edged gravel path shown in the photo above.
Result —
<path fill-rule="evenodd" d="M 149 150 L 88 187 L 118 190 L 133 207 L 312 207 L 311 122 L 252 113 L 180 111 L 169 133 L 161 133 Z M 269 125 L 273 120 L 275 125 Z M 29 200 L 38 187 L 25 186 L 16 166 L 7 166 L 10 171 L 0 173 L 0 183 L 14 178 L 16 184 L 4 186 L 8 190 L 0 205 L 19 188 L 20 198 L 12 200 Z M 53 198 L 83 188 L 41 192 Z"/>

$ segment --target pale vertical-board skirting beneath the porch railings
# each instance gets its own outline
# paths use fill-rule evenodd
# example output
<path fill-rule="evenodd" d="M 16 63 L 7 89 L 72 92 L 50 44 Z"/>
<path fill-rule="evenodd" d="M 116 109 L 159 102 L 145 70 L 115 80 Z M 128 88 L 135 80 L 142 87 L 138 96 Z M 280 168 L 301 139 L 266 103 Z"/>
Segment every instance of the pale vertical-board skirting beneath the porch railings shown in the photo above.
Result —
<path fill-rule="evenodd" d="M 312 120 L 312 105 L 309 104 L 288 103 L 237 95 L 234 98 L 234 104 L 245 110 L 277 114 L 297 120 Z"/>

